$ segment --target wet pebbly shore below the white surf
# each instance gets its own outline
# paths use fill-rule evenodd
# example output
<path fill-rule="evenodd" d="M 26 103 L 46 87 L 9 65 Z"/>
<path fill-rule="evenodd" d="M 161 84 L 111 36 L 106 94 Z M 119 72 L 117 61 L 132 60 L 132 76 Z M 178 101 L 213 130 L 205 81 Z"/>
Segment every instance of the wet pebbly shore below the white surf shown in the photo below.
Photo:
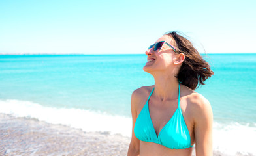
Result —
<path fill-rule="evenodd" d="M 127 155 L 130 140 L 0 113 L 0 155 Z M 228 155 L 214 150 L 214 156 Z"/>

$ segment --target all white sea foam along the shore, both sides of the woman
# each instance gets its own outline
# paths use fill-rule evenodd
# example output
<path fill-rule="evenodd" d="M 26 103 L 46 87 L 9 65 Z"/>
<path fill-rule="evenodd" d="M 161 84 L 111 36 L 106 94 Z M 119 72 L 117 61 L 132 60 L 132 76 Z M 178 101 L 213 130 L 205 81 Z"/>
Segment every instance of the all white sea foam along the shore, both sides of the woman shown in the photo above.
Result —
<path fill-rule="evenodd" d="M 101 112 L 82 109 L 44 107 L 30 101 L 14 99 L 0 100 L 0 113 L 16 117 L 37 118 L 54 124 L 69 125 L 84 131 L 101 131 L 110 134 L 131 136 L 131 118 L 112 116 Z M 214 122 L 214 150 L 225 155 L 256 155 L 256 127 L 232 123 L 224 125 Z"/>

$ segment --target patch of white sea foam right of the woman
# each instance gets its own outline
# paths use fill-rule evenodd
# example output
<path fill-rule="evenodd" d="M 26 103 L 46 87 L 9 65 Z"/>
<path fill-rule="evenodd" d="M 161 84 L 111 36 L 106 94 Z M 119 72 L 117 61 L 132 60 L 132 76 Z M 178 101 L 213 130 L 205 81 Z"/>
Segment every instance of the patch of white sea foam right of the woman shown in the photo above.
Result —
<path fill-rule="evenodd" d="M 227 155 L 256 155 L 256 127 L 232 123 L 229 125 L 214 122 L 214 149 Z"/>

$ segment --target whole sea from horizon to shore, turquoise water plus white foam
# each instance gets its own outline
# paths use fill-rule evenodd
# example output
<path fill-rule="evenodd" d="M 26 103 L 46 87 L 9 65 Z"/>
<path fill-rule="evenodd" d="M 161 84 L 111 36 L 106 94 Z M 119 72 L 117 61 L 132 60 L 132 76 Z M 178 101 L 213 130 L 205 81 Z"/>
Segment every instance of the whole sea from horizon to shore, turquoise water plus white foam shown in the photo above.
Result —
<path fill-rule="evenodd" d="M 195 91 L 214 113 L 213 148 L 256 155 L 256 54 L 202 54 Z M 146 55 L 0 55 L 0 113 L 131 137 L 131 94 L 154 84 Z"/>

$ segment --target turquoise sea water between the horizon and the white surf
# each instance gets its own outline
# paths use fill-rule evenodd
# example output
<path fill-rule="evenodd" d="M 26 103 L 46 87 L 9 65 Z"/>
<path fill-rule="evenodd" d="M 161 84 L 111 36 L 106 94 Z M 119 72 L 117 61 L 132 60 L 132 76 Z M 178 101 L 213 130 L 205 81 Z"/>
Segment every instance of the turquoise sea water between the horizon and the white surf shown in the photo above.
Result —
<path fill-rule="evenodd" d="M 0 55 L 0 99 L 131 116 L 131 92 L 153 85 L 146 55 Z M 256 54 L 208 54 L 214 75 L 196 91 L 218 122 L 256 123 Z"/>

